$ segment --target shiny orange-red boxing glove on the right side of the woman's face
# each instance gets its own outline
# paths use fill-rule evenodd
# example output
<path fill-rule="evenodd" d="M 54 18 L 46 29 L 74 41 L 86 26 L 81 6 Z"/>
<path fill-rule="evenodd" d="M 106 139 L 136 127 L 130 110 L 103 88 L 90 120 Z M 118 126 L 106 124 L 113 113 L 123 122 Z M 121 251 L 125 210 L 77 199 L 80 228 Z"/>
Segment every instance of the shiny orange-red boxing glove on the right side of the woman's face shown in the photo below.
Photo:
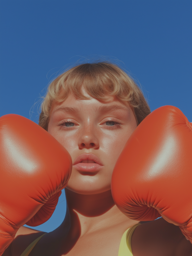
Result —
<path fill-rule="evenodd" d="M 116 163 L 111 189 L 126 216 L 161 215 L 192 243 L 192 124 L 180 109 L 158 108 L 139 124 Z"/>

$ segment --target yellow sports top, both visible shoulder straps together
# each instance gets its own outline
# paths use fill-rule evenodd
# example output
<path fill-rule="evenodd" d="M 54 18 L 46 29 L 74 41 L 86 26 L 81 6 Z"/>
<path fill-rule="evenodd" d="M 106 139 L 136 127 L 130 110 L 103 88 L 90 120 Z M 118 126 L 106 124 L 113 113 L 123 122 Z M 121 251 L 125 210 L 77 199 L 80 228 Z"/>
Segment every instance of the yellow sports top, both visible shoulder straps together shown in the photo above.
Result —
<path fill-rule="evenodd" d="M 137 226 L 141 225 L 140 223 L 135 224 L 134 226 L 132 226 L 131 228 L 127 229 L 120 240 L 120 247 L 119 247 L 119 253 L 118 256 L 133 256 L 132 255 L 132 244 L 131 244 L 131 240 L 132 240 L 132 234 L 134 232 L 134 230 L 136 229 Z M 44 236 L 45 234 L 43 234 L 42 236 L 38 237 L 36 240 L 34 240 L 31 244 L 29 244 L 29 246 L 24 250 L 24 252 L 22 253 L 21 256 L 28 256 L 30 254 L 30 252 L 33 250 L 33 248 L 36 246 L 36 244 L 39 242 L 39 240 Z"/>

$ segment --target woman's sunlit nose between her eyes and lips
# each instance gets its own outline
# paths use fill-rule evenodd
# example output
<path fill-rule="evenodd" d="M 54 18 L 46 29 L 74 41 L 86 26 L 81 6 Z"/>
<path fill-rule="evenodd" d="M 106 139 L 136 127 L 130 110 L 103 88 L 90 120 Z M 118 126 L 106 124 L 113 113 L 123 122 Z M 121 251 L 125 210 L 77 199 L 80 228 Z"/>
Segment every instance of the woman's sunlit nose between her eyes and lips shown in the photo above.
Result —
<path fill-rule="evenodd" d="M 86 129 L 83 131 L 83 133 L 80 135 L 79 141 L 78 141 L 79 148 L 99 148 L 99 142 L 96 134 L 94 134 L 93 129 L 91 127 L 89 129 Z"/>

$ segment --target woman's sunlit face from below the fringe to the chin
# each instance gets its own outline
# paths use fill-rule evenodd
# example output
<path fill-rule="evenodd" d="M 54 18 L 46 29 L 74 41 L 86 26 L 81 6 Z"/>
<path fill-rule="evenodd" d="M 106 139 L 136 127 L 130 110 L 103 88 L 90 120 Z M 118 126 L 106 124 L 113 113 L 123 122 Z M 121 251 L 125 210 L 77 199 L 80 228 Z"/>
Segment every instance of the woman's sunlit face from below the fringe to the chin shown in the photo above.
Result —
<path fill-rule="evenodd" d="M 136 127 L 132 109 L 114 96 L 101 102 L 92 97 L 77 99 L 70 94 L 64 102 L 53 104 L 48 133 L 72 157 L 67 188 L 80 194 L 109 190 L 115 163 Z"/>

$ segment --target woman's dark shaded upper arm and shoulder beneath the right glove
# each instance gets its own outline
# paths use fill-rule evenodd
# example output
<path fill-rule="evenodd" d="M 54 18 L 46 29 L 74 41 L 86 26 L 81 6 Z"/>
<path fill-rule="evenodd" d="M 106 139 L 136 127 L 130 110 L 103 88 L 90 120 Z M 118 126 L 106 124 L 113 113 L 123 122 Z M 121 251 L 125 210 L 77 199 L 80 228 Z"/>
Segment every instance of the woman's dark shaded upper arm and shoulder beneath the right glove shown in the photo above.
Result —
<path fill-rule="evenodd" d="M 192 244 L 178 226 L 160 218 L 135 229 L 132 253 L 133 256 L 192 256 Z"/>

